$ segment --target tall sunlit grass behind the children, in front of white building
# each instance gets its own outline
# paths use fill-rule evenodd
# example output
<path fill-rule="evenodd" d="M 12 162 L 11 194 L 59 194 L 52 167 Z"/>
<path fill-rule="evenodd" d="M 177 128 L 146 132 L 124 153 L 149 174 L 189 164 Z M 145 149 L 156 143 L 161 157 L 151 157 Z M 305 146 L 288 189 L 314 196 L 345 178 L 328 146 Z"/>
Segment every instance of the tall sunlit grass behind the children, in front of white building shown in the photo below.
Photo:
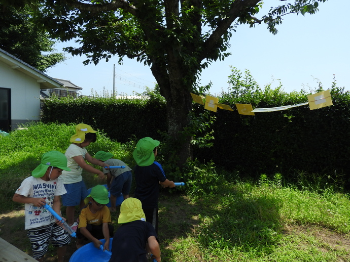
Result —
<path fill-rule="evenodd" d="M 41 156 L 51 150 L 65 152 L 69 139 L 75 134 L 75 124 L 43 124 L 32 122 L 23 125 L 24 129 L 0 136 L 0 210 L 11 210 L 18 206 L 12 201 L 13 194 L 23 179 L 40 163 Z M 130 144 L 120 144 L 110 140 L 102 132 L 97 133 L 97 141 L 87 147 L 90 155 L 99 150 L 110 151 L 115 158 L 130 166 L 134 160 Z"/>

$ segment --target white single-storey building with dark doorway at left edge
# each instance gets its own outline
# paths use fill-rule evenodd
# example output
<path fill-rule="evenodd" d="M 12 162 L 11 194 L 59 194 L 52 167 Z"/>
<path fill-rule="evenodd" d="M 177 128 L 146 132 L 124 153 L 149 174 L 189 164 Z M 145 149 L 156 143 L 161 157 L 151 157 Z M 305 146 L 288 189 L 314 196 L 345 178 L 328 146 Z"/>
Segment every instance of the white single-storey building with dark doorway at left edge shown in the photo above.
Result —
<path fill-rule="evenodd" d="M 63 83 L 0 49 L 0 129 L 40 120 L 40 91 Z"/>

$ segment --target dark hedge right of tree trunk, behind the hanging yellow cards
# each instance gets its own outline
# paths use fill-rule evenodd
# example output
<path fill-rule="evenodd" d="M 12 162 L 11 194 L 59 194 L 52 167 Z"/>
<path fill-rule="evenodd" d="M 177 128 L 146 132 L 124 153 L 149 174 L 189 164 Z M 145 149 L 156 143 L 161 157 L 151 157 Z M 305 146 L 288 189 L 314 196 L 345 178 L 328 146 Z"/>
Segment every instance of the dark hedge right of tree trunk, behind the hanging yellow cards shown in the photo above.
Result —
<path fill-rule="evenodd" d="M 319 91 L 322 89 L 312 93 Z M 325 173 L 333 179 L 345 174 L 348 178 L 350 95 L 333 86 L 331 96 L 333 105 L 329 107 L 310 110 L 306 105 L 251 116 L 239 115 L 235 103 L 252 104 L 253 108 L 294 105 L 307 102 L 307 94 L 269 88 L 238 98 L 226 94 L 219 103 L 234 111 L 218 109 L 213 113 L 217 117 L 214 147 L 197 150 L 196 156 L 256 178 L 276 172 L 297 176 L 298 171 Z"/>

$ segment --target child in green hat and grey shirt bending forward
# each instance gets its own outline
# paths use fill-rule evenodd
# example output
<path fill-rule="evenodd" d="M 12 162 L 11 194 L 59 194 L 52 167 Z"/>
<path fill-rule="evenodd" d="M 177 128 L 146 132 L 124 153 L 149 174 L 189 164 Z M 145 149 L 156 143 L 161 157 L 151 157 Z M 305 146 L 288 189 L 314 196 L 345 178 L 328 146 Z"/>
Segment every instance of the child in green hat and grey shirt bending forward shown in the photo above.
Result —
<path fill-rule="evenodd" d="M 129 197 L 132 184 L 132 169 L 122 160 L 113 158 L 113 155 L 110 152 L 98 151 L 95 154 L 95 158 L 109 164 L 110 166 L 125 166 L 124 168 L 102 168 L 103 173 L 107 175 L 107 187 L 111 193 L 110 210 L 115 212 L 117 196 L 119 196 L 120 193 L 123 193 L 124 200 Z"/>

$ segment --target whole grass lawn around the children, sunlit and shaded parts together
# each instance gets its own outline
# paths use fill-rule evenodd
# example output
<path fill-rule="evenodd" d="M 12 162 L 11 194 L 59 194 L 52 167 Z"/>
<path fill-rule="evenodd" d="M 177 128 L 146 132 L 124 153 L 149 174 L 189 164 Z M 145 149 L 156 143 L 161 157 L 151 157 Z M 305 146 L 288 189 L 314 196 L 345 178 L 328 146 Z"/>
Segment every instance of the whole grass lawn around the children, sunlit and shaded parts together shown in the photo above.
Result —
<path fill-rule="evenodd" d="M 12 196 L 42 153 L 64 152 L 71 129 L 59 126 L 57 134 L 57 125 L 39 125 L 0 138 L 0 237 L 28 254 L 23 205 L 14 203 Z M 130 145 L 102 136 L 87 149 L 110 150 L 133 166 Z M 332 188 L 299 190 L 282 186 L 282 180 L 225 181 L 215 194 L 200 196 L 191 190 L 160 189 L 162 261 L 350 261 L 349 195 Z M 89 173 L 84 181 L 88 187 L 98 183 Z M 112 213 L 115 228 L 118 215 Z M 75 250 L 73 240 L 66 261 Z M 56 261 L 55 255 L 50 247 L 46 260 Z"/>

